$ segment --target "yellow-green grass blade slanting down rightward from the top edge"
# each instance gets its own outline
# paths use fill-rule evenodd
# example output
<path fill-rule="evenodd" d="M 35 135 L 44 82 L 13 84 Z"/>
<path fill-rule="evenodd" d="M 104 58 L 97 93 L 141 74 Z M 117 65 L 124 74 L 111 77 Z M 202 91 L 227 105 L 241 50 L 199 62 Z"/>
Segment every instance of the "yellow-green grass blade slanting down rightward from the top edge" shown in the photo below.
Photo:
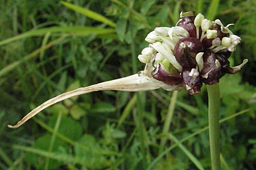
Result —
<path fill-rule="evenodd" d="M 94 20 L 97 20 L 99 22 L 102 22 L 102 23 L 105 23 L 105 24 L 108 24 L 110 25 L 111 27 L 115 27 L 115 23 L 112 22 L 112 20 L 106 18 L 105 16 L 101 15 L 101 14 L 98 14 L 94 11 L 91 11 L 91 10 L 88 10 L 86 8 L 82 8 L 80 6 L 77 6 L 77 5 L 73 5 L 72 3 L 68 3 L 68 2 L 64 2 L 64 1 L 61 1 L 61 3 L 70 8 L 71 10 L 74 10 L 76 12 L 79 12 L 81 13 L 82 15 L 85 15 L 87 16 L 88 18 L 91 18 L 91 19 L 94 19 Z"/>

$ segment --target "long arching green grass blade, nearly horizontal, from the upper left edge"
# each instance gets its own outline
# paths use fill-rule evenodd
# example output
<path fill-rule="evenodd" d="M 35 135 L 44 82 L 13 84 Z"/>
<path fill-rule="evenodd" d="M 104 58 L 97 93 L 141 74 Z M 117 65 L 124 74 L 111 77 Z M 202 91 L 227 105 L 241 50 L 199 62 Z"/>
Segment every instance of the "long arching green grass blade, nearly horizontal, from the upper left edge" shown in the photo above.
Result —
<path fill-rule="evenodd" d="M 72 35 L 77 35 L 77 36 L 87 36 L 90 34 L 102 35 L 102 34 L 113 33 L 115 32 L 115 30 L 112 28 L 96 28 L 96 27 L 80 27 L 80 26 L 40 28 L 40 29 L 24 32 L 15 37 L 11 37 L 9 39 L 0 41 L 0 46 L 8 44 L 12 41 L 24 39 L 26 37 L 43 36 L 48 32 L 53 33 L 51 36 L 56 36 L 56 33 L 63 33 L 63 32 L 72 33 Z"/>

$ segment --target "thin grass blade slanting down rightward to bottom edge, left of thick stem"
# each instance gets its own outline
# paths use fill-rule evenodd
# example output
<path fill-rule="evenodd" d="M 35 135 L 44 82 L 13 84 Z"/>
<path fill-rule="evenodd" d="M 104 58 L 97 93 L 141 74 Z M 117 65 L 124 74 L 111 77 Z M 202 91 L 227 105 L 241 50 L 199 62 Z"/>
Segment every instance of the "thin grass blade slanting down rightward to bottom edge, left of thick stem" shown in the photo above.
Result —
<path fill-rule="evenodd" d="M 172 135 L 172 134 L 169 134 L 169 137 L 172 139 L 172 141 L 174 141 L 175 143 L 177 143 L 177 146 L 179 146 L 179 148 L 184 152 L 185 155 L 188 156 L 188 158 L 193 162 L 193 164 L 196 165 L 196 167 L 200 170 L 204 170 L 204 167 L 203 165 L 199 162 L 199 160 L 191 153 L 189 152 L 189 150 L 187 150 L 187 148 L 185 148 L 184 145 L 182 145 L 180 143 L 180 141 L 178 141 L 178 139 Z"/>

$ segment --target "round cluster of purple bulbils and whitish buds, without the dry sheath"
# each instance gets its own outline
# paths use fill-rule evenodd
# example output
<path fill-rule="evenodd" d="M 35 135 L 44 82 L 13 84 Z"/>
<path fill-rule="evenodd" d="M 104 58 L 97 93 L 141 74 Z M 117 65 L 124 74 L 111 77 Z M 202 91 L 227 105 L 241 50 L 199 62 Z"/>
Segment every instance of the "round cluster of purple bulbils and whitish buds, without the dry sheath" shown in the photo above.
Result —
<path fill-rule="evenodd" d="M 205 84 L 218 83 L 226 73 L 241 70 L 247 59 L 230 67 L 228 58 L 241 38 L 224 25 L 194 12 L 181 12 L 176 27 L 158 27 L 148 33 L 151 44 L 142 50 L 139 61 L 146 63 L 144 71 L 166 84 L 182 84 L 189 94 L 199 94 Z"/>

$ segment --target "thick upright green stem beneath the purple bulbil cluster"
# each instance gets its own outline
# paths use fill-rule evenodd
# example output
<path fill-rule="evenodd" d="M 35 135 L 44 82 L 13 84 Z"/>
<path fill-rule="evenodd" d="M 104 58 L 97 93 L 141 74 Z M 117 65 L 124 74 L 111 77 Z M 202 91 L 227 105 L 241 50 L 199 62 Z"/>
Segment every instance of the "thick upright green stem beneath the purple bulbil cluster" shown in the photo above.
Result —
<path fill-rule="evenodd" d="M 218 84 L 208 85 L 208 117 L 209 117 L 209 137 L 210 137 L 210 160 L 212 170 L 220 170 L 220 87 Z"/>

